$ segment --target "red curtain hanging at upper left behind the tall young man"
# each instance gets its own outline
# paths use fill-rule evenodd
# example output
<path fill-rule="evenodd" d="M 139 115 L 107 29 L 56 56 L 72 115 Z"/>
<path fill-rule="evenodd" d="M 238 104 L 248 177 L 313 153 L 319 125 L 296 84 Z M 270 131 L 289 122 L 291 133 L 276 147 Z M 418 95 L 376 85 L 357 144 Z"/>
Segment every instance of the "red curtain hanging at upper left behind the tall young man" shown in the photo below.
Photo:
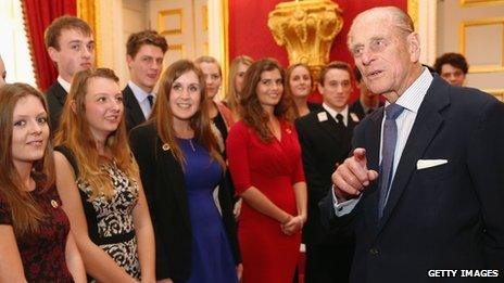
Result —
<path fill-rule="evenodd" d="M 56 79 L 58 70 L 43 43 L 43 31 L 62 15 L 77 15 L 77 0 L 22 0 L 23 16 L 37 86 L 46 91 Z"/>

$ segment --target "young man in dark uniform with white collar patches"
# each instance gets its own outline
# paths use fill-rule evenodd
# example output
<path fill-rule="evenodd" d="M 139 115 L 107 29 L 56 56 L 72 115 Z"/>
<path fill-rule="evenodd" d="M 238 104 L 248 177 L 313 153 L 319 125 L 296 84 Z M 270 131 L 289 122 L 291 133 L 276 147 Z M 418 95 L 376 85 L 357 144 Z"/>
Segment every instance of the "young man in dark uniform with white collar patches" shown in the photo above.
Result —
<path fill-rule="evenodd" d="M 344 282 L 352 263 L 353 236 L 326 230 L 318 210 L 318 202 L 330 190 L 336 164 L 350 154 L 353 128 L 358 123 L 348 105 L 351 74 L 350 65 L 344 62 L 325 66 L 318 85 L 324 100 L 322 107 L 295 120 L 308 192 L 308 217 L 303 229 L 306 283 Z"/>

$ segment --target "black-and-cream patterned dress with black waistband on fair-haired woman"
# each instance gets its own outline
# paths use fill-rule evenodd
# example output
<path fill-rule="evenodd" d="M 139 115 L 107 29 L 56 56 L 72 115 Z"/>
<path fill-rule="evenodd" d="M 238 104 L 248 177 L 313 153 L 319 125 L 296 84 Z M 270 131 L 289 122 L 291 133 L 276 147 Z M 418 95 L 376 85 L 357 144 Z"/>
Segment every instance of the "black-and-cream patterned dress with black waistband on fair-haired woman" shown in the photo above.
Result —
<path fill-rule="evenodd" d="M 75 158 L 66 147 L 56 147 L 74 167 Z M 133 209 L 138 202 L 138 183 L 117 168 L 115 162 L 102 166 L 113 182 L 115 194 L 108 200 L 103 194 L 91 198 L 92 191 L 85 180 L 77 180 L 88 233 L 91 241 L 106 252 L 129 275 L 140 279 L 137 237 Z"/>

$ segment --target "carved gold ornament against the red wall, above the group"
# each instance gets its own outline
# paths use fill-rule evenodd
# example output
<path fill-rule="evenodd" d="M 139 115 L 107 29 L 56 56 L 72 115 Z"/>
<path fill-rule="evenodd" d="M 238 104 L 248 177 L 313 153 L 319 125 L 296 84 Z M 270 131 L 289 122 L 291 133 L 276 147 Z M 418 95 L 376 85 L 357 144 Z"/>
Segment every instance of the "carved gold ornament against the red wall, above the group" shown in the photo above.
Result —
<path fill-rule="evenodd" d="M 268 27 L 277 44 L 286 47 L 289 64 L 307 64 L 316 81 L 322 67 L 329 63 L 343 17 L 339 5 L 329 0 L 282 2 L 269 13 Z"/>

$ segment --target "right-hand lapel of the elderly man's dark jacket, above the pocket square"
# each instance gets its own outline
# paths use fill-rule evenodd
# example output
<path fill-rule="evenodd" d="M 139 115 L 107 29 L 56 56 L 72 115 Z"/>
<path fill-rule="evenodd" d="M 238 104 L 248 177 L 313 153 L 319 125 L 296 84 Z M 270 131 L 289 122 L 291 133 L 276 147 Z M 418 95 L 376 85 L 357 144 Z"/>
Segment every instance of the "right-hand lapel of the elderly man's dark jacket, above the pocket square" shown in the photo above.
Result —
<path fill-rule="evenodd" d="M 430 141 L 436 137 L 439 127 L 443 124 L 444 118 L 441 116 L 440 111 L 450 104 L 450 99 L 446 85 L 439 81 L 439 77 L 434 77 L 418 110 L 394 175 L 389 200 L 383 216 L 379 221 L 378 232 L 383 228 L 408 185 L 410 179 L 416 170 L 416 162 L 420 159 Z"/>

